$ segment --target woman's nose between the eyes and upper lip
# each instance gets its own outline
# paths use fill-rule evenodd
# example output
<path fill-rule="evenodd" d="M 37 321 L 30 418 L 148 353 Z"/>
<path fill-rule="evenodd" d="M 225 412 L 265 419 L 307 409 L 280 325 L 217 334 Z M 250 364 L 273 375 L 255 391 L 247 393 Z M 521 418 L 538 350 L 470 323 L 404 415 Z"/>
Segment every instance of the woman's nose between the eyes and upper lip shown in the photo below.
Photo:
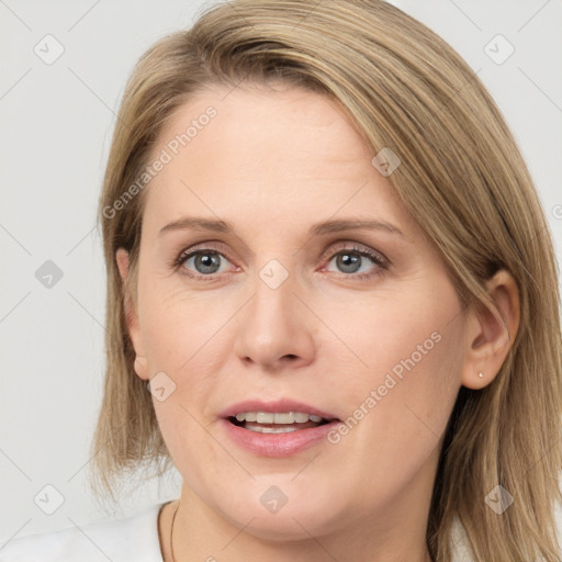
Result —
<path fill-rule="evenodd" d="M 276 284 L 257 276 L 249 302 L 237 314 L 234 351 L 261 371 L 303 367 L 315 357 L 318 321 L 304 304 L 297 279 L 289 274 Z"/>

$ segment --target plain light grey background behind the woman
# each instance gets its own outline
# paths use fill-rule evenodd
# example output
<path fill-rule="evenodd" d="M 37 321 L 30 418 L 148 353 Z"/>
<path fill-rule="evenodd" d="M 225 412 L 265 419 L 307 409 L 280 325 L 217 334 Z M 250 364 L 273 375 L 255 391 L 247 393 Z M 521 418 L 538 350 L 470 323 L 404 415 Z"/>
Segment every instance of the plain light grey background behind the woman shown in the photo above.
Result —
<path fill-rule="evenodd" d="M 85 470 L 103 375 L 105 280 L 94 228 L 103 168 L 136 59 L 211 3 L 0 1 L 0 546 L 106 517 Z M 536 180 L 560 262 L 562 2 L 393 3 L 438 32 L 490 88 Z M 56 53 L 47 34 L 65 49 L 50 65 L 34 52 L 38 44 L 44 57 Z M 490 43 L 497 34 L 515 48 L 503 64 L 509 47 Z M 35 277 L 46 260 L 63 272 L 50 289 Z M 50 516 L 34 503 L 47 484 L 65 498 Z M 115 517 L 177 497 L 179 484 L 177 472 L 148 482 Z"/>

